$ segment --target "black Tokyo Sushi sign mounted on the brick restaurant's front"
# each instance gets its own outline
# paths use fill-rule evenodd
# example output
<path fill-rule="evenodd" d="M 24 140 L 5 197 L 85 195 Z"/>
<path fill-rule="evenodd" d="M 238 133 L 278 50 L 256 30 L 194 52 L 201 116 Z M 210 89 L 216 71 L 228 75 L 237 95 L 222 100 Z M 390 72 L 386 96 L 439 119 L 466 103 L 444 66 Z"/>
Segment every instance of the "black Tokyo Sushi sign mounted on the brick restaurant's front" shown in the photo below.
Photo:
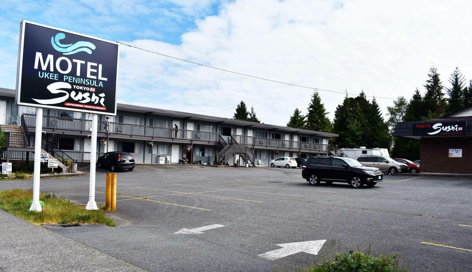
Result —
<path fill-rule="evenodd" d="M 424 122 L 413 124 L 413 136 L 466 135 L 466 122 Z"/>

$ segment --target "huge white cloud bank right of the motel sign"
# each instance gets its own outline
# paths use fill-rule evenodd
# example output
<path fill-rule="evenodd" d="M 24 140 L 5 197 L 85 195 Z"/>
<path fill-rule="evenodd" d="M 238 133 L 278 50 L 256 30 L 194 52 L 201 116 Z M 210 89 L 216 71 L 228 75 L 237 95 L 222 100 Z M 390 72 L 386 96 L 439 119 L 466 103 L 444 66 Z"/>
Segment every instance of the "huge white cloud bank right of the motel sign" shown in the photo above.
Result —
<path fill-rule="evenodd" d="M 469 3 L 443 1 L 241 0 L 197 22 L 182 44 L 129 43 L 268 79 L 367 95 L 411 97 L 432 63 L 447 82 L 455 66 L 472 77 Z M 187 64 L 122 47 L 120 100 L 231 117 L 240 100 L 260 120 L 285 125 L 306 112 L 312 91 Z M 343 95 L 320 92 L 329 117 Z M 126 97 L 126 99 L 125 99 Z M 391 100 L 378 99 L 382 111 Z"/>

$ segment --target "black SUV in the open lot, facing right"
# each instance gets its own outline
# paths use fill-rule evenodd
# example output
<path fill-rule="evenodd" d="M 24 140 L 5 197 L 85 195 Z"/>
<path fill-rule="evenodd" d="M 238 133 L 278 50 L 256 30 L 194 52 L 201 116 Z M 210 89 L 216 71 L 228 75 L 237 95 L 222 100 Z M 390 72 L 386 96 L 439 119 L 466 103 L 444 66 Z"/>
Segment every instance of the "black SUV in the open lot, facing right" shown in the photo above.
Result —
<path fill-rule="evenodd" d="M 364 166 L 351 158 L 333 156 L 310 157 L 303 166 L 302 176 L 311 185 L 318 185 L 320 181 L 347 182 L 353 188 L 360 188 L 363 184 L 374 186 L 382 181 L 379 168 Z"/>

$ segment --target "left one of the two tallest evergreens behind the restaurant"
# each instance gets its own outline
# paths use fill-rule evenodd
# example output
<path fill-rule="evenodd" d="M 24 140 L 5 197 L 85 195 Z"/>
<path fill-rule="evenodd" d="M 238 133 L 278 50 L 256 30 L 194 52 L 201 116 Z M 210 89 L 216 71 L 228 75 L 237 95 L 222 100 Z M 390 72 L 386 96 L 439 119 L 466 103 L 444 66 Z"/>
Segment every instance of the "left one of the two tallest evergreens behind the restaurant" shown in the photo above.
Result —
<path fill-rule="evenodd" d="M 446 114 L 448 110 L 442 91 L 444 87 L 439 79 L 438 69 L 434 66 L 431 66 L 428 77 L 429 79 L 426 80 L 426 84 L 423 85 L 426 88 L 426 94 L 424 95 L 426 118 L 439 118 Z"/>

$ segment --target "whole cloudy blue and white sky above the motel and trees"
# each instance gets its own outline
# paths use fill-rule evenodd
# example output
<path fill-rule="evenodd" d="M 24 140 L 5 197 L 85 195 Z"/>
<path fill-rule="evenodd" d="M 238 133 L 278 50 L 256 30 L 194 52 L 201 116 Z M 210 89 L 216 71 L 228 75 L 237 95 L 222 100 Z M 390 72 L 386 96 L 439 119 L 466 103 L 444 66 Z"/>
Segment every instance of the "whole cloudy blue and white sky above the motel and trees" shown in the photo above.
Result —
<path fill-rule="evenodd" d="M 0 87 L 15 88 L 25 19 L 162 54 L 313 88 L 368 96 L 424 91 L 434 64 L 447 84 L 472 79 L 471 1 L 2 1 Z M 232 117 L 244 100 L 265 123 L 303 113 L 312 90 L 121 47 L 118 102 Z M 320 91 L 332 119 L 344 95 Z M 391 99 L 378 99 L 382 112 Z"/>

